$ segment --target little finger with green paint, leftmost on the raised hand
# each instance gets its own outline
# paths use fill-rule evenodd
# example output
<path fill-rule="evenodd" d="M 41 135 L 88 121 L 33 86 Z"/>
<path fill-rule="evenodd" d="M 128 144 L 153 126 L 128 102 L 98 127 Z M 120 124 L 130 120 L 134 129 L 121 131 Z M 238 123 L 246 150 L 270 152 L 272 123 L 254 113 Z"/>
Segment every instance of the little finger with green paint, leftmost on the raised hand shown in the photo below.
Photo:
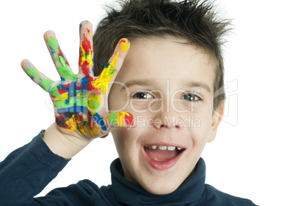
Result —
<path fill-rule="evenodd" d="M 46 77 L 43 73 L 39 72 L 39 70 L 32 65 L 32 63 L 29 62 L 29 60 L 22 60 L 21 63 L 22 69 L 25 71 L 25 73 L 39 86 L 41 86 L 42 89 L 45 91 L 50 91 L 51 84 L 53 84 L 53 80 Z"/>

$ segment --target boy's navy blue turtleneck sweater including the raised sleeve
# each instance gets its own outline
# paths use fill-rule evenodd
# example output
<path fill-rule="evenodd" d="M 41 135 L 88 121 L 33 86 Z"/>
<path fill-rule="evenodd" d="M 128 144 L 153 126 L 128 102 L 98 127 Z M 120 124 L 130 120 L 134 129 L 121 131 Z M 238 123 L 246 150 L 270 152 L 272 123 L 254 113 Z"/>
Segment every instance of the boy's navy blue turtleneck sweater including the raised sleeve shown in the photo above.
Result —
<path fill-rule="evenodd" d="M 55 155 L 42 140 L 43 131 L 30 143 L 0 162 L 0 205 L 254 205 L 205 184 L 206 165 L 200 159 L 195 173 L 168 195 L 154 195 L 123 178 L 119 159 L 111 165 L 112 185 L 99 188 L 83 180 L 34 198 L 69 160 Z"/>

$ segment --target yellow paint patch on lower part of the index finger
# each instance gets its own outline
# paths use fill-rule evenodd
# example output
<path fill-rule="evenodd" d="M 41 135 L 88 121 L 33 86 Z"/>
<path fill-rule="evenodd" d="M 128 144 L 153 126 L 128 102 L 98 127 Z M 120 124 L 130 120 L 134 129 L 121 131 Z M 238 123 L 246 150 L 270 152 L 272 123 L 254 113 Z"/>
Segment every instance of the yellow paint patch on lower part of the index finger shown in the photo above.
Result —
<path fill-rule="evenodd" d="M 109 82 L 111 82 L 112 77 L 114 77 L 114 74 L 116 73 L 118 56 L 119 51 L 116 53 L 116 56 L 114 56 L 112 63 L 109 63 L 108 67 L 105 67 L 105 69 L 102 70 L 100 77 L 91 82 L 92 86 L 98 89 L 102 94 L 106 94 Z"/>

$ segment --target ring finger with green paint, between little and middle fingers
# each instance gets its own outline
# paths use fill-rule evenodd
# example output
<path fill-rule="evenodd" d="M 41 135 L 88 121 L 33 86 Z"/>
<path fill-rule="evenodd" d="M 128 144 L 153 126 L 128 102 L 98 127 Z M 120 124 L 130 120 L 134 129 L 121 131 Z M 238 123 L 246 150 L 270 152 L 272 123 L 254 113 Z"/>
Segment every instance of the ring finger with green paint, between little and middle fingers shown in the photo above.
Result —
<path fill-rule="evenodd" d="M 55 33 L 52 31 L 45 32 L 44 40 L 61 79 L 71 79 L 73 82 L 76 82 L 77 75 L 74 75 L 67 62 L 67 58 L 62 53 Z"/>

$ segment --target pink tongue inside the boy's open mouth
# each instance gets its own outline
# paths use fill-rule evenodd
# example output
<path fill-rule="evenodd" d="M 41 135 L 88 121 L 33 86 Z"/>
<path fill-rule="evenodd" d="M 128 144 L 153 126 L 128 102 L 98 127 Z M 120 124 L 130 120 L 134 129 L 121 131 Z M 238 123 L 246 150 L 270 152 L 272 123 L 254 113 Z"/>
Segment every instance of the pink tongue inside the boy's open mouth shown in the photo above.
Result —
<path fill-rule="evenodd" d="M 149 157 L 158 162 L 166 162 L 179 154 L 177 150 L 159 150 L 158 148 L 152 149 L 147 147 L 145 147 L 145 152 Z"/>

